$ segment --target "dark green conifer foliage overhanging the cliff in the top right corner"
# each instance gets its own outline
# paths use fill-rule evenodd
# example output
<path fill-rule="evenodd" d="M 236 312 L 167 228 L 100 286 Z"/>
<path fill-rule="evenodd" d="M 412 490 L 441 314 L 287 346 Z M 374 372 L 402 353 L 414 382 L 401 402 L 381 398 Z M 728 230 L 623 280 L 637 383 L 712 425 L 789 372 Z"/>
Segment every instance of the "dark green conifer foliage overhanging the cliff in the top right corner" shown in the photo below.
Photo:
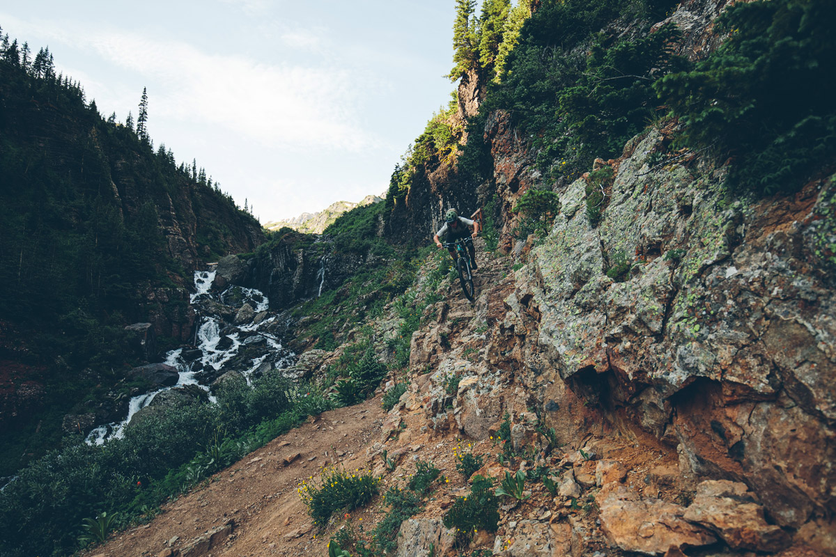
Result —
<path fill-rule="evenodd" d="M 716 20 L 725 42 L 655 84 L 686 144 L 732 157 L 733 189 L 798 190 L 836 153 L 834 20 L 831 0 L 736 3 Z"/>

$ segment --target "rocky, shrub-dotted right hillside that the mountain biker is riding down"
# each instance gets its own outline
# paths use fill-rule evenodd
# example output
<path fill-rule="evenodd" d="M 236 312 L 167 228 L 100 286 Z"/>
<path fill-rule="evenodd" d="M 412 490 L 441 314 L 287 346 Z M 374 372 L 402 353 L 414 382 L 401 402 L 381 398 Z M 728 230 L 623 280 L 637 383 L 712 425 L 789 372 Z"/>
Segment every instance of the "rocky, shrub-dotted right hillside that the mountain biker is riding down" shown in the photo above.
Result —
<path fill-rule="evenodd" d="M 25 468 L 0 555 L 836 555 L 834 10 L 456 3 L 385 203 L 224 258 L 217 403 Z"/>

